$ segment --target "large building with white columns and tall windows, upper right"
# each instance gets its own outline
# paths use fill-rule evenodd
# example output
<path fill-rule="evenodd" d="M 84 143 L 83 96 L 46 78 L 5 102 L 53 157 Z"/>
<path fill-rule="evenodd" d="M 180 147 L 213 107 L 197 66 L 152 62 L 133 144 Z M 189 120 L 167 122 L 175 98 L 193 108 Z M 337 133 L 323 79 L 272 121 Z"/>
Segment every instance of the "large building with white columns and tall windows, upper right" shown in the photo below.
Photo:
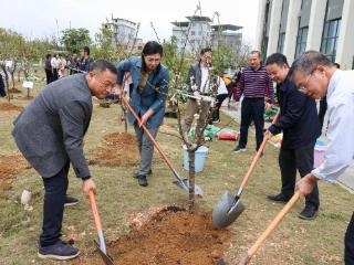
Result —
<path fill-rule="evenodd" d="M 256 49 L 280 52 L 289 63 L 304 51 L 324 53 L 342 68 L 354 67 L 353 0 L 259 0 Z"/>

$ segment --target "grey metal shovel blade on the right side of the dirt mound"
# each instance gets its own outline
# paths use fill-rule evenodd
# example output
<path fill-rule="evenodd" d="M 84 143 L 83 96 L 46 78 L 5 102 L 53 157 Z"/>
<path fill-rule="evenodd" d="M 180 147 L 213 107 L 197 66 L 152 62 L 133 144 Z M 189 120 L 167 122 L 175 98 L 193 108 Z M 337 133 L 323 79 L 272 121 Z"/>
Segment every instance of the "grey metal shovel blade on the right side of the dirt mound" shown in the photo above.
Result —
<path fill-rule="evenodd" d="M 244 206 L 240 199 L 236 199 L 229 191 L 225 192 L 212 209 L 212 223 L 218 229 L 225 229 L 243 212 Z"/>

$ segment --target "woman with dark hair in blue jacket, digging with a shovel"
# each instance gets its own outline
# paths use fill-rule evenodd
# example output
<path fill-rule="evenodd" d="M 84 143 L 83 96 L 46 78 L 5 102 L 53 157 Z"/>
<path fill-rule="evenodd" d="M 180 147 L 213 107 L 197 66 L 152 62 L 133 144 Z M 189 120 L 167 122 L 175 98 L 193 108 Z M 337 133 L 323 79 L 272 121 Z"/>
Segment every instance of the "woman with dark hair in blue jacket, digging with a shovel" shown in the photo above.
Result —
<path fill-rule="evenodd" d="M 142 125 L 146 125 L 149 132 L 156 138 L 159 126 L 164 120 L 165 103 L 168 91 L 168 68 L 162 65 L 163 46 L 154 41 L 145 44 L 142 56 L 132 56 L 117 65 L 117 84 L 122 89 L 125 73 L 131 73 L 129 86 L 131 106 L 139 116 L 137 123 L 132 113 L 128 113 L 128 121 L 134 125 L 140 153 L 140 167 L 134 178 L 139 186 L 147 186 L 147 174 L 152 173 L 154 144 L 144 132 Z"/>

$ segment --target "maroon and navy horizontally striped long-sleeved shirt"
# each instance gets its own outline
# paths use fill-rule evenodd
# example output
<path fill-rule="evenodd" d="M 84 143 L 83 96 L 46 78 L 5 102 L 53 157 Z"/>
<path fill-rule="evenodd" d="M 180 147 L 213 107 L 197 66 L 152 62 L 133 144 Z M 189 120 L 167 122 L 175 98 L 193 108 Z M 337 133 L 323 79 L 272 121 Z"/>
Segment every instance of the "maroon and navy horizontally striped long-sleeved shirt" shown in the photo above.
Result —
<path fill-rule="evenodd" d="M 256 71 L 250 66 L 243 70 L 238 97 L 240 98 L 242 94 L 244 97 L 263 97 L 273 103 L 273 82 L 270 80 L 264 66 Z"/>

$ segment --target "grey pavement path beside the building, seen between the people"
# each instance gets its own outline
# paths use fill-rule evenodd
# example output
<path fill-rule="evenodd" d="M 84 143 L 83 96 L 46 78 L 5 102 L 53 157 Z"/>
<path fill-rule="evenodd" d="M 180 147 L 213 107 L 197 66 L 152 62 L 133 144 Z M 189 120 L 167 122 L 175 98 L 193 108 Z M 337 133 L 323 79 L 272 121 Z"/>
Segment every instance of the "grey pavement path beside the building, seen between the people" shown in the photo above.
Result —
<path fill-rule="evenodd" d="M 228 106 L 228 100 L 225 100 L 221 107 L 221 112 L 233 118 L 238 124 L 240 124 L 240 110 L 237 108 L 236 103 L 231 102 Z M 327 124 L 327 115 L 324 118 L 324 124 Z M 264 124 L 264 128 L 268 128 L 270 123 Z M 252 130 L 252 128 L 250 127 Z M 325 137 L 326 126 L 323 126 L 322 136 L 320 137 L 321 140 L 326 141 Z M 353 136 L 354 137 L 354 136 Z M 354 162 L 351 167 L 348 167 L 345 172 L 339 178 L 337 183 L 343 187 L 344 189 L 348 190 L 351 193 L 354 194 Z"/>

